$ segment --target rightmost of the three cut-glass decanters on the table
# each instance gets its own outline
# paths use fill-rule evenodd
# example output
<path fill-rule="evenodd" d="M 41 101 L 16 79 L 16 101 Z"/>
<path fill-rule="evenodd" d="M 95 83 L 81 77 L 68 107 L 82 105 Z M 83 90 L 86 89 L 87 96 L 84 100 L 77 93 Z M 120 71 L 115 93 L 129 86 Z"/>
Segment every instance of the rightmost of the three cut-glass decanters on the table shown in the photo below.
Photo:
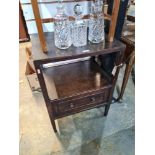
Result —
<path fill-rule="evenodd" d="M 95 0 L 89 19 L 88 39 L 92 43 L 100 43 L 105 39 L 104 16 L 102 13 L 103 0 Z"/>

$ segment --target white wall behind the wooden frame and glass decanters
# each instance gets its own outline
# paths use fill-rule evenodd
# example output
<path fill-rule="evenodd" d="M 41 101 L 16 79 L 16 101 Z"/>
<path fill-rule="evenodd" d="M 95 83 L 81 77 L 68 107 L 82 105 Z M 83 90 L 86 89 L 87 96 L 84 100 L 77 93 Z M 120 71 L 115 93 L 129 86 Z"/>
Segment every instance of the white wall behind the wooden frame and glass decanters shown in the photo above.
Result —
<path fill-rule="evenodd" d="M 38 0 L 38 2 L 52 2 L 55 0 Z M 37 28 L 36 28 L 36 23 L 35 21 L 27 21 L 29 19 L 34 19 L 33 15 L 33 10 L 31 5 L 24 5 L 25 3 L 30 3 L 30 0 L 20 0 L 22 9 L 23 9 L 23 14 L 26 20 L 27 28 L 28 28 L 28 33 L 33 34 L 37 33 Z M 90 4 L 91 2 L 78 2 L 81 4 L 84 8 L 84 13 L 83 14 L 88 14 L 90 12 Z M 66 9 L 66 14 L 73 16 L 73 7 L 76 4 L 74 3 L 64 3 L 65 9 Z M 56 6 L 57 3 L 55 4 L 39 4 L 39 9 L 40 9 L 40 14 L 42 18 L 52 18 L 56 14 Z M 53 23 L 45 23 L 43 24 L 43 30 L 44 32 L 51 32 L 53 31 Z"/>

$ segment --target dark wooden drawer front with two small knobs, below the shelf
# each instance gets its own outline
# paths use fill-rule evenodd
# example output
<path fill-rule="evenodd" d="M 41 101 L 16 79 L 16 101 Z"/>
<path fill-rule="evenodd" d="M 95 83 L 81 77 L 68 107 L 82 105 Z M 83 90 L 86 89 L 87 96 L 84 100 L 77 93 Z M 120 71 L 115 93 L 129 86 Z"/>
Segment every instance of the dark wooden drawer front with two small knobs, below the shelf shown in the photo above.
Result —
<path fill-rule="evenodd" d="M 88 95 L 85 97 L 72 99 L 69 101 L 60 101 L 54 104 L 54 111 L 56 115 L 65 114 L 67 112 L 74 112 L 78 110 L 85 110 L 99 104 L 103 104 L 108 100 L 109 89 L 103 92 Z"/>

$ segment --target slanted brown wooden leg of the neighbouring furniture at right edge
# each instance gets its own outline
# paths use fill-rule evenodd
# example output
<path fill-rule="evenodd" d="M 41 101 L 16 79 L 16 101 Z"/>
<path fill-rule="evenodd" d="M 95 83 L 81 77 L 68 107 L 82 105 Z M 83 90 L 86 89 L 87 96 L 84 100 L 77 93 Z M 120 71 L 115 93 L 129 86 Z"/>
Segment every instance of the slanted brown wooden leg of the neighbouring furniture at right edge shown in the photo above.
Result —
<path fill-rule="evenodd" d="M 120 101 L 123 98 L 124 91 L 125 91 L 125 88 L 126 88 L 126 85 L 127 85 L 133 64 L 134 64 L 134 57 L 131 58 L 130 62 L 126 65 L 123 83 L 122 83 L 122 87 L 121 87 L 121 92 L 120 92 L 119 97 L 117 98 L 117 101 Z"/>

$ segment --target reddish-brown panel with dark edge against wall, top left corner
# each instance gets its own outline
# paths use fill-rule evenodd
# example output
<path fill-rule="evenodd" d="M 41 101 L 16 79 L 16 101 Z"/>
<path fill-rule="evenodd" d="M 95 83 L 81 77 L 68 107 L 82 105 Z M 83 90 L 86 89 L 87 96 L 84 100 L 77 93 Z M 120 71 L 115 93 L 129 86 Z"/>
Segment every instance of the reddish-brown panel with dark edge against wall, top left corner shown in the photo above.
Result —
<path fill-rule="evenodd" d="M 28 34 L 22 7 L 19 2 L 19 42 L 25 42 L 25 41 L 29 41 L 29 40 L 30 40 L 30 36 Z"/>

